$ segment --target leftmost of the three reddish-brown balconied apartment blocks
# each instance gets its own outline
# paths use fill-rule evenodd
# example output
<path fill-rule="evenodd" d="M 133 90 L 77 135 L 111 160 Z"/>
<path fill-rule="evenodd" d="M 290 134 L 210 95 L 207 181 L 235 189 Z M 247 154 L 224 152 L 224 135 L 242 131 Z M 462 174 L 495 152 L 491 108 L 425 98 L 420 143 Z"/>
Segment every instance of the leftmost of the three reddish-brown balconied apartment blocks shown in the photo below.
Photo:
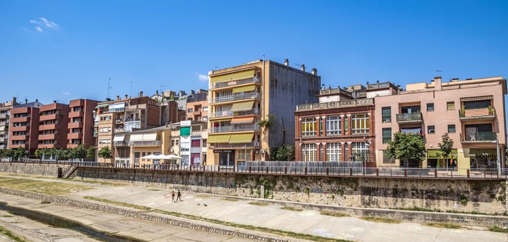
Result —
<path fill-rule="evenodd" d="M 26 149 L 30 156 L 39 144 L 39 108 L 42 103 L 27 102 L 10 109 L 8 149 Z"/>

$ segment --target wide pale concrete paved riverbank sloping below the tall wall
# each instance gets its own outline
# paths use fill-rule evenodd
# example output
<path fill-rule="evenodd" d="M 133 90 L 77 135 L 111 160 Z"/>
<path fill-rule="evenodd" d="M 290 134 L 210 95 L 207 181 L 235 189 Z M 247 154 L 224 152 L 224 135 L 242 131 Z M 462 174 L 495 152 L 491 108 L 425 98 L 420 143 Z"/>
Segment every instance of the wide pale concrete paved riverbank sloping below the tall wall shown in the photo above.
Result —
<path fill-rule="evenodd" d="M 17 176 L 17 178 L 19 178 Z M 350 241 L 508 241 L 505 233 L 489 232 L 484 227 L 462 227 L 460 229 L 447 229 L 430 227 L 419 223 L 379 223 L 365 221 L 353 216 L 327 216 L 316 210 L 284 210 L 281 205 L 267 203 L 268 205 L 253 205 L 251 202 L 264 202 L 262 199 L 242 199 L 226 196 L 214 196 L 210 194 L 194 194 L 183 192 L 182 201 L 171 202 L 170 190 L 153 189 L 150 187 L 137 187 L 134 185 L 109 186 L 94 183 L 82 183 L 79 180 L 55 180 L 39 179 L 60 183 L 76 183 L 93 186 L 84 192 L 66 194 L 69 198 L 87 199 L 100 198 L 107 201 L 116 201 L 131 205 L 151 207 L 155 210 L 178 212 L 214 219 L 228 223 L 252 225 L 255 227 L 268 227 L 274 230 L 311 234 L 334 239 Z M 176 193 L 176 190 L 174 191 Z M 5 197 L 2 194 L 0 201 Z M 87 197 L 87 198 L 85 198 Z M 89 201 L 89 200 L 88 200 Z M 71 212 L 60 212 L 63 216 Z M 109 214 L 96 216 L 111 216 Z M 196 221 L 200 223 L 199 221 Z M 114 225 L 111 225 L 114 226 Z M 214 226 L 213 224 L 211 226 Z M 217 224 L 217 226 L 222 226 Z M 107 226 L 106 226 L 107 227 Z M 156 234 L 152 232 L 147 241 L 162 241 L 154 239 Z M 259 232 L 255 232 L 259 233 Z M 133 233 L 135 236 L 136 234 Z M 163 236 L 161 236 L 163 237 Z M 159 237 L 159 238 L 161 238 Z M 277 235 L 275 235 L 277 237 Z M 228 238 L 230 239 L 230 238 Z M 302 241 L 300 239 L 284 238 L 289 241 Z M 210 240 L 194 240 L 210 241 Z M 213 240 L 230 241 L 230 240 Z"/>

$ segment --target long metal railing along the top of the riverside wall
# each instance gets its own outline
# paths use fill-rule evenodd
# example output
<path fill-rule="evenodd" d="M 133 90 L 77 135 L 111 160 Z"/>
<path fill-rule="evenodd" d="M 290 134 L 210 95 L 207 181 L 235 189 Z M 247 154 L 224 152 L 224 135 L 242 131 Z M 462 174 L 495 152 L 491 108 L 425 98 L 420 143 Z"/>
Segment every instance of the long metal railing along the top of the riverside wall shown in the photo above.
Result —
<path fill-rule="evenodd" d="M 139 158 L 136 158 L 139 160 Z M 8 160 L 1 162 L 19 162 L 34 164 L 77 165 L 80 167 L 116 167 L 126 169 L 163 169 L 199 172 L 230 172 L 250 174 L 291 174 L 305 176 L 360 176 L 370 178 L 408 177 L 408 178 L 460 178 L 460 179 L 507 179 L 508 169 L 455 169 L 446 168 L 403 168 L 403 167 L 362 167 L 361 162 L 289 162 L 286 165 L 277 162 L 248 161 L 244 165 L 180 165 L 159 164 L 140 165 L 71 160 Z M 298 165 L 298 163 L 302 163 Z"/>

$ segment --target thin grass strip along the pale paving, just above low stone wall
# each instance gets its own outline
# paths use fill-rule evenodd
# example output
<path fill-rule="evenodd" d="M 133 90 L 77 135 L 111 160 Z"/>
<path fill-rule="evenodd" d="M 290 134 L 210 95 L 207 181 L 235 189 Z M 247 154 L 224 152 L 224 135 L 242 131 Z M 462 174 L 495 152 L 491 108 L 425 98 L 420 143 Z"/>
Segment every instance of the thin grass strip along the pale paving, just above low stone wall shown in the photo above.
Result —
<path fill-rule="evenodd" d="M 111 200 L 102 199 L 102 198 L 95 198 L 92 196 L 85 196 L 84 198 L 87 198 L 87 199 L 93 200 L 93 201 L 100 201 L 102 203 L 111 203 L 114 205 L 120 205 L 123 207 L 131 207 L 131 208 L 135 208 L 138 210 L 146 210 L 146 211 L 156 212 L 158 214 L 167 214 L 167 215 L 176 216 L 176 217 L 180 217 L 180 218 L 189 218 L 189 219 L 194 219 L 194 220 L 199 220 L 199 221 L 206 221 L 209 223 L 215 223 L 215 224 L 219 224 L 219 225 L 225 225 L 225 226 L 230 226 L 230 227 L 239 227 L 239 228 L 243 228 L 246 230 L 255 230 L 255 231 L 266 232 L 266 233 L 270 233 L 270 234 L 277 234 L 280 236 L 289 236 L 289 237 L 293 237 L 293 238 L 297 238 L 297 239 L 307 239 L 310 241 L 318 241 L 318 242 L 350 242 L 350 241 L 347 241 L 344 239 L 325 238 L 325 237 L 320 237 L 320 236 L 314 236 L 311 234 L 300 234 L 300 233 L 296 233 L 296 232 L 274 230 L 269 227 L 256 227 L 256 226 L 252 226 L 252 225 L 242 225 L 242 224 L 238 224 L 238 223 L 230 223 L 230 222 L 225 222 L 225 221 L 219 221 L 217 219 L 212 219 L 212 218 L 204 218 L 202 216 L 181 214 L 179 212 L 157 210 L 152 207 L 134 205 L 134 204 L 129 204 L 129 203 L 121 203 L 121 202 L 111 201 Z M 251 202 L 251 203 L 260 203 L 260 202 Z"/>

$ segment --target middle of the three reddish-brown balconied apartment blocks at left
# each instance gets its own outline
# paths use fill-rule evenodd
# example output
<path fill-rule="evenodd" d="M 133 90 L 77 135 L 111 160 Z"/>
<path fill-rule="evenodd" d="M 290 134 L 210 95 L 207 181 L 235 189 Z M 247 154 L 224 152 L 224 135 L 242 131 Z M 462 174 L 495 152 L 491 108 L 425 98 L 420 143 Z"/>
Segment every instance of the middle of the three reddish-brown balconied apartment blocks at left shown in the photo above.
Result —
<path fill-rule="evenodd" d="M 38 149 L 66 148 L 67 125 L 69 124 L 69 105 L 53 101 L 39 109 Z"/>

